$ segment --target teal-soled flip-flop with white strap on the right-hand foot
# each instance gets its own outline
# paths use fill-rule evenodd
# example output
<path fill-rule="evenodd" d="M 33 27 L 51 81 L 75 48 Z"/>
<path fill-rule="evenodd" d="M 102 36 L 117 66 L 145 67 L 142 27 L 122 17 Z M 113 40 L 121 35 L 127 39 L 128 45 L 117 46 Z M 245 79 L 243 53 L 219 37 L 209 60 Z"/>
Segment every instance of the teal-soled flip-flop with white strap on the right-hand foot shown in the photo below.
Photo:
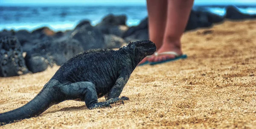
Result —
<path fill-rule="evenodd" d="M 178 60 L 178 59 L 186 59 L 188 57 L 186 54 L 178 55 L 174 51 L 167 51 L 167 52 L 163 52 L 163 53 L 159 53 L 159 54 L 157 52 L 154 53 L 154 56 L 161 56 L 161 55 L 175 55 L 175 58 L 167 59 L 167 60 L 160 61 L 160 62 L 149 62 L 149 64 L 150 65 L 161 64 L 161 63 L 165 63 L 165 62 L 172 62 L 172 61 L 175 61 L 175 60 Z"/>

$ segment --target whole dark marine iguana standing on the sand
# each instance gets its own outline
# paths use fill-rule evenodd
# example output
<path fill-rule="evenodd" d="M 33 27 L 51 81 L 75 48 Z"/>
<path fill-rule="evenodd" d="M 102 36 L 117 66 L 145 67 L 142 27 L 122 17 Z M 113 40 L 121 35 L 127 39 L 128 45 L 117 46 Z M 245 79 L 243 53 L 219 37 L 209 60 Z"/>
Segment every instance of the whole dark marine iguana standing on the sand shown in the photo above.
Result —
<path fill-rule="evenodd" d="M 27 104 L 0 113 L 0 125 L 35 117 L 54 104 L 66 100 L 85 101 L 88 109 L 111 107 L 119 98 L 137 64 L 152 55 L 156 46 L 150 40 L 129 42 L 119 50 L 90 49 L 61 65 L 43 89 Z M 106 101 L 98 102 L 105 96 Z"/>

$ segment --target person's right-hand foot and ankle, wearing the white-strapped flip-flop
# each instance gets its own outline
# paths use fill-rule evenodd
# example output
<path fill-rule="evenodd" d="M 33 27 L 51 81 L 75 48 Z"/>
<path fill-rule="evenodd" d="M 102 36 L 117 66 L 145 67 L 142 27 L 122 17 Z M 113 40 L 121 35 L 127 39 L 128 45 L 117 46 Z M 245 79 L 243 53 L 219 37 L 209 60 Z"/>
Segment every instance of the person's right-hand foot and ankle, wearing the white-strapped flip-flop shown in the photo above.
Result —
<path fill-rule="evenodd" d="M 173 51 L 176 52 L 178 55 L 182 55 L 180 42 L 175 43 L 163 43 L 161 48 L 157 50 L 157 53 L 163 53 L 167 51 Z M 160 62 L 167 59 L 174 59 L 175 55 L 162 55 L 162 56 L 154 56 L 152 55 L 150 58 L 148 58 L 149 62 Z"/>

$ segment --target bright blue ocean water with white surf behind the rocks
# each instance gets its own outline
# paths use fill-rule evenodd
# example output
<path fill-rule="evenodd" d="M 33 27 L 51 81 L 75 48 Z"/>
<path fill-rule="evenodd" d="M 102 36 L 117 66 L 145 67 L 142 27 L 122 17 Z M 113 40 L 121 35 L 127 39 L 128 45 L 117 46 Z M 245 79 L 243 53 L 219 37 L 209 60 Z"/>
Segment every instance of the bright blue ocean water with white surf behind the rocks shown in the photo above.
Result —
<path fill-rule="evenodd" d="M 239 7 L 239 6 L 238 6 Z M 223 16 L 224 6 L 194 5 L 194 10 L 210 11 Z M 256 14 L 256 6 L 241 6 L 245 14 Z M 147 17 L 146 6 L 0 6 L 0 31 L 3 29 L 32 31 L 47 26 L 54 31 L 73 29 L 81 20 L 90 20 L 92 25 L 99 23 L 108 14 L 125 14 L 127 25 L 138 25 Z"/>

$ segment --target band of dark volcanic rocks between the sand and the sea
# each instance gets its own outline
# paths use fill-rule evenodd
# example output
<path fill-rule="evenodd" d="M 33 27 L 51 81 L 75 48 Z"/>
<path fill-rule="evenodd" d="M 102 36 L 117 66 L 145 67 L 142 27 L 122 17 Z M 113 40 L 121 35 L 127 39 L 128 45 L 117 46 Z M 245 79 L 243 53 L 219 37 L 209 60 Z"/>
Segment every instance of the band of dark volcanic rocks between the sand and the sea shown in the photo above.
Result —
<path fill-rule="evenodd" d="M 234 6 L 227 6 L 224 17 L 207 11 L 192 11 L 185 31 L 210 28 L 224 20 L 255 19 L 256 15 L 242 14 Z M 61 65 L 84 50 L 119 48 L 128 41 L 148 39 L 147 17 L 137 26 L 128 27 L 125 15 L 109 14 L 92 26 L 81 21 L 75 29 L 54 32 L 47 27 L 31 33 L 26 30 L 0 32 L 0 76 L 19 76 L 38 73 Z"/>

